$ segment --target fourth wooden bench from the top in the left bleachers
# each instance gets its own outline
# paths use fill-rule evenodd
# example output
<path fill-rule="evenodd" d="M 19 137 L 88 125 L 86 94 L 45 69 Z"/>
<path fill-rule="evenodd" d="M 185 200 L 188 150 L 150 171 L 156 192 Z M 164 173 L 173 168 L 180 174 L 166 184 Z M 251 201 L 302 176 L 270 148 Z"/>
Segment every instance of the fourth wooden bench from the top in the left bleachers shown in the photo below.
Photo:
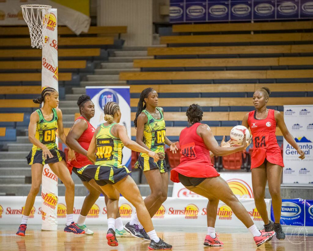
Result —
<path fill-rule="evenodd" d="M 84 69 L 85 60 L 61 60 L 58 61 L 59 69 Z M 41 61 L 0 61 L 0 69 L 41 69 Z"/>

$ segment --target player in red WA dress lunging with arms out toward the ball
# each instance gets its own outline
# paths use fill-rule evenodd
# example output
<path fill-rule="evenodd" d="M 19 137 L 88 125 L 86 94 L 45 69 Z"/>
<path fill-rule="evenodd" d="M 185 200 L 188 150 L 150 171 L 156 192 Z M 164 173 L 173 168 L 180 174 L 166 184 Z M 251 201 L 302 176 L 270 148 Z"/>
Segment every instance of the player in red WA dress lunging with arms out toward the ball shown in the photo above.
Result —
<path fill-rule="evenodd" d="M 233 194 L 228 184 L 213 167 L 210 159 L 212 155 L 225 156 L 244 150 L 251 142 L 245 140 L 242 146 L 218 146 L 210 127 L 201 124 L 203 111 L 198 104 L 192 104 L 187 109 L 189 125 L 182 130 L 179 144 L 182 148 L 180 164 L 171 171 L 171 180 L 181 182 L 188 190 L 208 198 L 207 221 L 208 235 L 205 246 L 223 246 L 215 233 L 215 220 L 218 202 L 222 200 L 228 205 L 237 218 L 244 223 L 254 237 L 257 246 L 273 238 L 275 232 L 259 231 L 253 224 L 247 210 Z"/>

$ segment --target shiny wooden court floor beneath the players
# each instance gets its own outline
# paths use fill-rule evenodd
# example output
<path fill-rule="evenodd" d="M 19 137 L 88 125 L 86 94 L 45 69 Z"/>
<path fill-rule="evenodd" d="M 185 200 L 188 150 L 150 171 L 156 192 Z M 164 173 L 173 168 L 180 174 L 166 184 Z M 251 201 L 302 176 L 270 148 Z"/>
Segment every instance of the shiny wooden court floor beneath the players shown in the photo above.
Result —
<path fill-rule="evenodd" d="M 149 242 L 136 238 L 118 238 L 119 246 L 110 247 L 106 243 L 106 226 L 89 226 L 95 232 L 93 236 L 74 235 L 65 233 L 59 227 L 59 231 L 41 231 L 39 225 L 29 225 L 25 237 L 15 235 L 18 226 L 1 226 L 0 250 L 5 251 L 33 251 L 33 250 L 148 250 Z M 313 250 L 313 230 L 304 227 L 288 227 L 287 235 L 283 241 L 275 237 L 268 243 L 264 243 L 259 248 L 256 247 L 253 238 L 245 228 L 220 228 L 220 240 L 224 242 L 223 247 L 206 247 L 203 245 L 205 229 L 197 227 L 173 227 L 156 226 L 156 231 L 160 237 L 173 245 L 173 250 Z M 286 231 L 286 227 L 284 227 Z"/>

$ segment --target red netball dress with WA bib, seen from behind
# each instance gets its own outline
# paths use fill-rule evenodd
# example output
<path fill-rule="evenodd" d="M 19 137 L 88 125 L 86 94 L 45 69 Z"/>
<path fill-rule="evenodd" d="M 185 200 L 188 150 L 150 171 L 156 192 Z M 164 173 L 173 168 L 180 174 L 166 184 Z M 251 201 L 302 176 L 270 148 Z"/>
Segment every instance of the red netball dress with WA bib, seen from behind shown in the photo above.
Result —
<path fill-rule="evenodd" d="M 178 173 L 187 177 L 209 178 L 219 176 L 210 159 L 210 150 L 197 134 L 201 123 L 195 123 L 182 130 L 179 136 L 181 146 L 180 164 L 171 170 L 171 180 L 180 182 Z"/>

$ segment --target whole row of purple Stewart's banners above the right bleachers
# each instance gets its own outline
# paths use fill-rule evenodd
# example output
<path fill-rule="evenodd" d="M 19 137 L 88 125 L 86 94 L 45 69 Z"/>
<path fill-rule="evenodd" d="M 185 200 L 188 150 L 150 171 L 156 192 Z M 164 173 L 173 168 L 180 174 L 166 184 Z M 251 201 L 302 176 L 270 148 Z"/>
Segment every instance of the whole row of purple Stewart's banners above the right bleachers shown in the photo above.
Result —
<path fill-rule="evenodd" d="M 312 0 L 171 0 L 170 22 L 313 18 Z"/>

